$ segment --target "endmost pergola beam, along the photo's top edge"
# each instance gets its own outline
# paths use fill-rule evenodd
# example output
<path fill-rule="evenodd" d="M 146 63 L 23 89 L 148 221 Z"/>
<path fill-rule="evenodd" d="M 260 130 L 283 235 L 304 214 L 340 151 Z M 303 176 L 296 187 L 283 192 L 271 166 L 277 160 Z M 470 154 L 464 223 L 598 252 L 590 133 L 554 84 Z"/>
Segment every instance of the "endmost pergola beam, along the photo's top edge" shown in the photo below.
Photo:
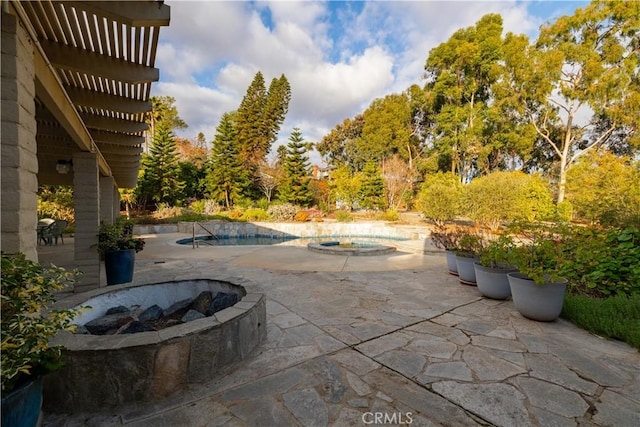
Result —
<path fill-rule="evenodd" d="M 65 1 L 65 5 L 105 16 L 131 27 L 166 27 L 171 8 L 158 1 Z"/>

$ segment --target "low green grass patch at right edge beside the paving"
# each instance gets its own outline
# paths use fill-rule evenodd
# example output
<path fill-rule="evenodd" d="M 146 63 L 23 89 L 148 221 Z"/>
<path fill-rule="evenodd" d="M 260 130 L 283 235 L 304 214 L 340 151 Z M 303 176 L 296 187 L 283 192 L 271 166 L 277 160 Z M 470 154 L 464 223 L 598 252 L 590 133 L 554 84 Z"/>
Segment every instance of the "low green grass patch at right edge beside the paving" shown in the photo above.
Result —
<path fill-rule="evenodd" d="M 609 298 L 567 294 L 561 316 L 589 332 L 640 350 L 640 294 Z"/>

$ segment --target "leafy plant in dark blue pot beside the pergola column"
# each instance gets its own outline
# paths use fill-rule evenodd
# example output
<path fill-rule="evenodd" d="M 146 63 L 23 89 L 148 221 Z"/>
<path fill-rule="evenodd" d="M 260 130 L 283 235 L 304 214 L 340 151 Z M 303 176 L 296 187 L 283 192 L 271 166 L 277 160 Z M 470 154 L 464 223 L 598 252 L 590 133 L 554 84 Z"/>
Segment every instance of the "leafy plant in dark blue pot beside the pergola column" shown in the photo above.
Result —
<path fill-rule="evenodd" d="M 145 241 L 133 237 L 133 224 L 118 220 L 113 224 L 101 223 L 98 231 L 98 251 L 104 259 L 107 285 L 118 285 L 133 280 L 135 254 L 144 248 Z"/>

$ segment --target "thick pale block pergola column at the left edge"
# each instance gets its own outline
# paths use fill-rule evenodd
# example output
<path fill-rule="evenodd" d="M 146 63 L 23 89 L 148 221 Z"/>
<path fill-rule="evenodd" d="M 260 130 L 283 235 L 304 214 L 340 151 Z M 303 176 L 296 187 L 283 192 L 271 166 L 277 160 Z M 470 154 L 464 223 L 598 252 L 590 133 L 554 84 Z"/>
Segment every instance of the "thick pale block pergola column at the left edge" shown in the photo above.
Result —
<path fill-rule="evenodd" d="M 35 70 L 33 45 L 15 15 L 2 12 L 2 232 L 6 253 L 37 261 Z"/>

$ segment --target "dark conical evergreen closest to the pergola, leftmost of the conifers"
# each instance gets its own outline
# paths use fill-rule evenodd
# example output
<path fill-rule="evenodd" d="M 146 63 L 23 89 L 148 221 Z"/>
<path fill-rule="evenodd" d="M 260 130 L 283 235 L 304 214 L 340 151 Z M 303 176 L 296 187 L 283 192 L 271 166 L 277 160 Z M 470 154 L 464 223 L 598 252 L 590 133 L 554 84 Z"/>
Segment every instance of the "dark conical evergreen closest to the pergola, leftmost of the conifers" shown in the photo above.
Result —
<path fill-rule="evenodd" d="M 149 154 L 142 158 L 136 190 L 140 200 L 175 205 L 181 200 L 184 187 L 170 122 L 161 121 L 156 126 Z"/>

